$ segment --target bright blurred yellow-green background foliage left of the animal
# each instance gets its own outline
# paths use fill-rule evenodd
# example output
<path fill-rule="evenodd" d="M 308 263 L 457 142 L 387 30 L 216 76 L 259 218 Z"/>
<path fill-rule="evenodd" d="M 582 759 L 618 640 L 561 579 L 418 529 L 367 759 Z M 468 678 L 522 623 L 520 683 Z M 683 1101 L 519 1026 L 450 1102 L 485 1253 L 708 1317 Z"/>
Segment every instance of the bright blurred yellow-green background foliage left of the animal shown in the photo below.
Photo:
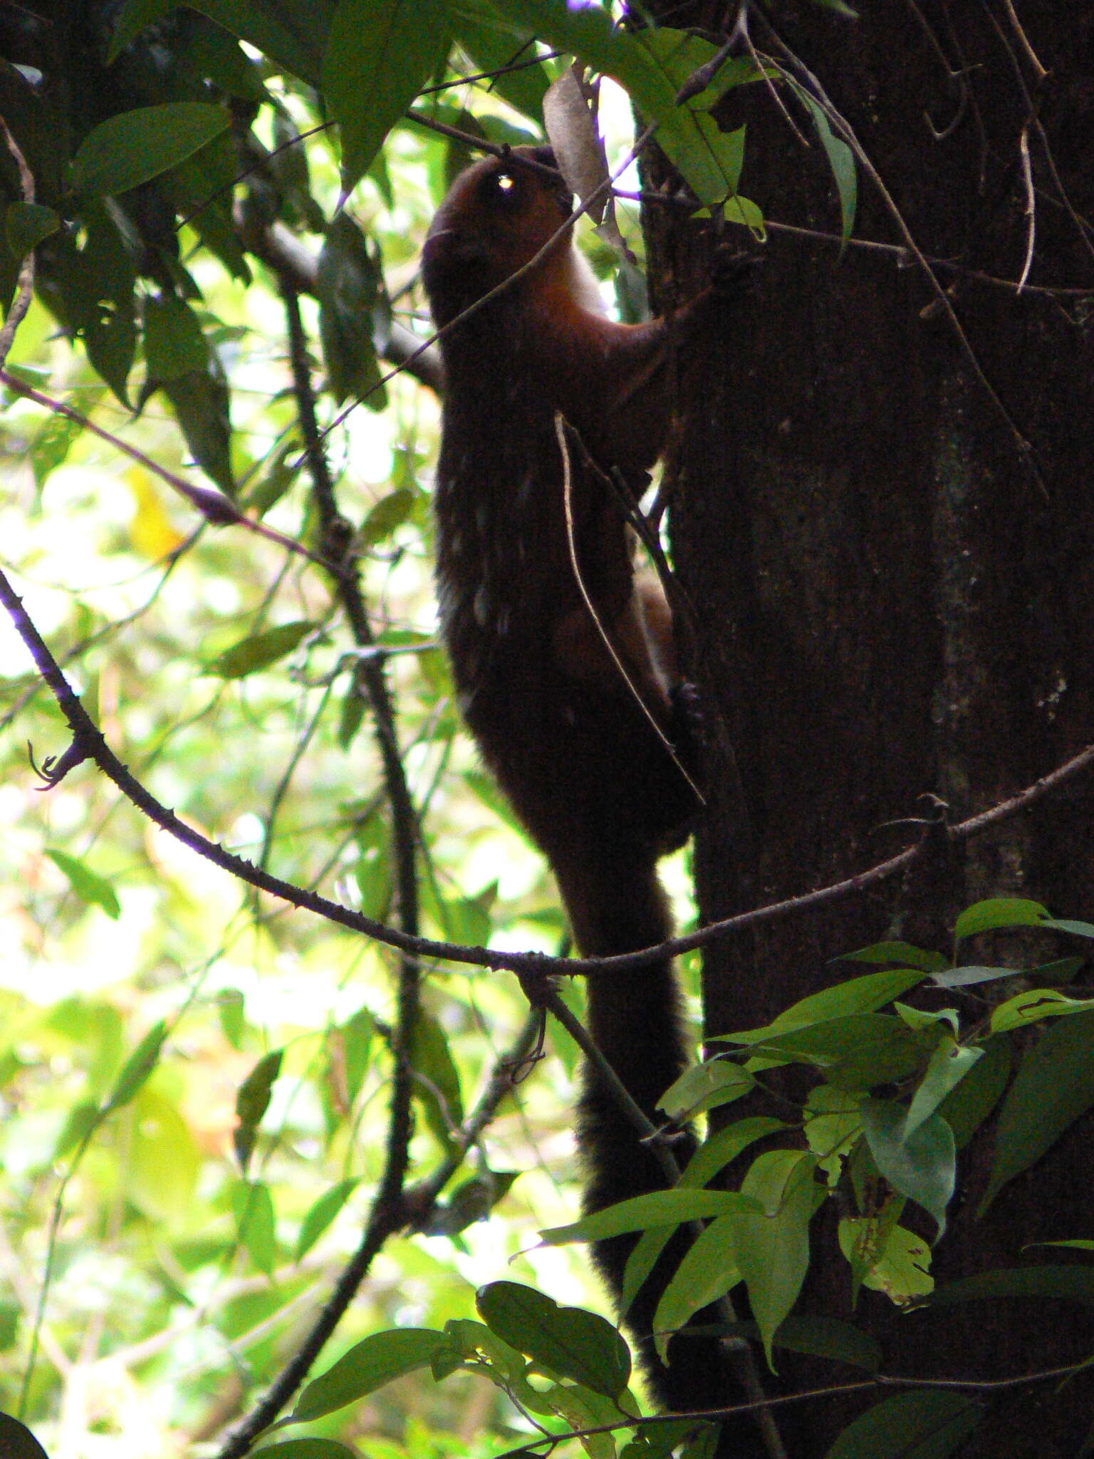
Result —
<path fill-rule="evenodd" d="M 120 25 L 130 39 L 111 60 Z M 445 61 L 442 38 L 436 85 L 502 60 L 484 32 L 477 54 L 455 45 Z M 423 931 L 556 950 L 553 889 L 476 763 L 435 642 L 436 398 L 400 376 L 371 409 L 338 411 L 378 379 L 392 322 L 427 333 L 417 248 L 467 149 L 397 125 L 338 212 L 333 133 L 295 140 L 325 121 L 299 74 L 315 54 L 293 74 L 276 48 L 263 55 L 197 12 L 106 0 L 6 7 L 0 42 L 0 112 L 36 182 L 29 204 L 12 156 L 0 160 L 6 301 L 28 236 L 44 239 L 7 368 L 315 546 L 284 302 L 248 241 L 280 231 L 321 258 L 319 302 L 302 311 L 321 423 L 337 416 L 325 448 L 338 506 L 391 651 L 423 817 Z M 538 107 L 540 71 L 423 105 L 473 133 L 532 137 L 509 104 Z M 203 125 L 216 108 L 222 127 L 169 171 L 127 175 L 131 137 L 121 156 L 80 160 L 104 121 L 175 104 L 197 104 Z M 155 160 L 153 130 L 146 140 Z M 607 271 L 608 251 L 594 249 Z M 13 391 L 0 457 L 3 569 L 130 769 L 230 849 L 389 918 L 387 800 L 330 581 L 241 527 L 203 524 L 144 465 Z M 41 1319 L 25 1417 L 53 1459 L 213 1452 L 360 1239 L 384 1157 L 392 957 L 241 887 L 90 765 L 39 794 L 28 744 L 41 763 L 69 732 L 6 620 L 0 724 L 0 1406 L 20 1402 Z M 429 970 L 424 1004 L 417 1173 L 443 1156 L 461 1102 L 525 1014 L 508 976 L 446 969 Z M 160 1020 L 153 1072 L 118 1099 Z M 548 1053 L 468 1154 L 439 1220 L 451 1234 L 391 1243 L 325 1358 L 379 1328 L 467 1316 L 474 1287 L 499 1275 L 598 1300 L 575 1250 L 516 1255 L 576 1208 L 575 1061 Z M 494 1199 L 489 1227 L 467 1224 Z M 481 1455 L 487 1431 L 512 1441 L 496 1390 L 467 1376 L 403 1379 L 311 1431 L 366 1439 L 373 1459 L 465 1453 L 471 1440 Z"/>

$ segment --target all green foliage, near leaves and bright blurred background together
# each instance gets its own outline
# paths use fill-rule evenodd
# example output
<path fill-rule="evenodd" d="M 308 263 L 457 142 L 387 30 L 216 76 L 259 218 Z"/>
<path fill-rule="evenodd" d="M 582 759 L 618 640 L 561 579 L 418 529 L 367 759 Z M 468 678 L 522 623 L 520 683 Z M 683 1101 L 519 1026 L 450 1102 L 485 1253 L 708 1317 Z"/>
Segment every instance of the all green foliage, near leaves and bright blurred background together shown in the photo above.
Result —
<path fill-rule="evenodd" d="M 29 249 L 36 264 L 0 423 L 15 480 L 0 508 L 4 568 L 31 616 L 108 740 L 182 820 L 394 924 L 407 910 L 400 843 L 365 683 L 382 662 L 423 826 L 423 929 L 557 948 L 554 900 L 461 737 L 433 639 L 435 404 L 381 365 L 426 338 L 414 252 L 467 156 L 467 140 L 426 124 L 531 139 L 547 85 L 578 55 L 656 124 L 696 210 L 723 209 L 761 233 L 761 210 L 737 193 L 744 131 L 722 123 L 734 88 L 777 77 L 777 66 L 737 57 L 680 102 L 718 47 L 623 29 L 608 9 L 562 0 L 42 0 L 0 25 L 0 114 L 35 184 L 31 197 L 15 155 L 0 158 L 4 301 Z M 496 85 L 464 80 L 477 71 L 497 73 Z M 815 98 L 799 85 L 796 95 L 846 236 L 850 152 Z M 589 247 L 627 295 L 627 266 L 604 242 Z M 314 296 L 303 315 L 321 359 L 324 448 L 372 642 L 354 638 L 314 560 L 214 530 L 212 509 L 198 521 L 150 465 L 184 474 L 193 463 L 252 521 L 324 552 L 299 382 L 271 337 L 292 333 L 300 295 Z M 67 395 L 83 419 L 44 414 L 20 382 Z M 343 411 L 362 400 L 371 413 Z M 83 420 L 149 461 L 124 461 Z M 296 1350 L 384 1188 L 384 1110 L 401 1067 L 397 960 L 233 884 L 88 766 L 32 795 L 25 741 L 57 753 L 67 730 L 15 641 L 0 667 L 3 722 L 16 727 L 0 791 L 0 1380 L 20 1414 L 0 1417 L 0 1446 L 41 1455 L 25 1420 L 54 1452 L 64 1412 L 67 1431 L 80 1430 L 73 1452 L 214 1452 Z M 817 1261 L 839 1259 L 852 1290 L 901 1310 L 1012 1293 L 1088 1303 L 1079 1262 L 939 1290 L 929 1274 L 928 1237 L 944 1239 L 974 1131 L 995 1118 L 986 1210 L 1094 1104 L 1094 1001 L 1060 991 L 1082 959 L 1030 967 L 1027 986 L 995 1005 L 990 985 L 1018 961 L 964 960 L 970 938 L 1009 928 L 1046 943 L 1094 935 L 1001 899 L 961 916 L 951 957 L 896 943 L 850 954 L 874 970 L 725 1034 L 725 1050 L 667 1093 L 680 1123 L 761 1097 L 707 1135 L 675 1191 L 572 1224 L 573 1192 L 557 1180 L 573 1050 L 559 1042 L 553 1087 L 518 1085 L 489 1135 L 464 1138 L 496 1062 L 511 1046 L 528 1055 L 524 1008 L 508 979 L 430 967 L 407 1050 L 408 1199 L 433 1176 L 438 1189 L 394 1223 L 419 1234 L 375 1259 L 283 1420 L 292 1437 L 268 1436 L 258 1452 L 538 1452 L 541 1431 L 598 1430 L 582 1440 L 594 1459 L 709 1455 L 709 1425 L 639 1421 L 626 1344 L 569 1304 L 595 1301 L 569 1243 L 613 1231 L 642 1233 L 633 1293 L 681 1223 L 709 1223 L 694 1226 L 658 1328 L 667 1341 L 744 1290 L 751 1322 L 728 1309 L 726 1331 L 773 1367 L 795 1350 L 884 1376 L 869 1335 L 799 1310 Z M 901 1001 L 913 989 L 932 996 L 913 1008 Z M 810 1071 L 796 1102 L 780 1084 L 789 1069 Z M 729 1189 L 709 1189 L 722 1177 Z M 846 1211 L 839 1255 L 810 1240 L 834 1201 Z M 521 1252 L 532 1228 L 544 1245 Z M 499 1280 L 505 1258 L 524 1280 Z M 973 1399 L 941 1390 L 885 1396 L 833 1459 L 945 1455 L 977 1415 Z"/>

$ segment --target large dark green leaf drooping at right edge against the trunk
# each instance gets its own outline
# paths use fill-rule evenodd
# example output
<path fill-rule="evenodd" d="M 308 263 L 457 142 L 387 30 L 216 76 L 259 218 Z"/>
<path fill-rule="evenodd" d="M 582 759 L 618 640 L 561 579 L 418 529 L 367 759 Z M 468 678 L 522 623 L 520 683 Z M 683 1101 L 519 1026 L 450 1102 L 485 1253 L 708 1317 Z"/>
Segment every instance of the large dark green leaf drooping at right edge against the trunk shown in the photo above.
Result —
<path fill-rule="evenodd" d="M 995 1164 L 979 1215 L 1008 1180 L 1094 1104 L 1094 1013 L 1052 1024 L 1025 1056 L 999 1112 Z"/>

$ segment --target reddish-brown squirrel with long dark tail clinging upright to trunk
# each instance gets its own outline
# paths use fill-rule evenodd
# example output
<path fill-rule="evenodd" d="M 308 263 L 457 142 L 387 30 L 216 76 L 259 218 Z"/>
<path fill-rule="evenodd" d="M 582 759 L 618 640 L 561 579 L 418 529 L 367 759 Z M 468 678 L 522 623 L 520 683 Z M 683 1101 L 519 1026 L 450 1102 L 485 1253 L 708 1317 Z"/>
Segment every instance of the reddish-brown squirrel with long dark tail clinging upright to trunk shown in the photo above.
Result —
<path fill-rule="evenodd" d="M 547 147 L 486 158 L 438 209 L 422 268 L 438 328 L 528 264 L 572 212 L 562 177 L 522 158 L 554 162 Z M 712 286 L 670 318 L 617 324 L 570 231 L 441 340 L 442 635 L 483 760 L 547 856 L 589 957 L 671 937 L 656 862 L 684 843 L 699 810 L 694 715 L 672 616 L 661 585 L 635 572 L 610 473 L 645 480 L 668 435 L 671 349 L 687 349 L 729 296 Z M 569 427 L 562 435 L 559 416 Z M 659 1123 L 658 1100 L 686 1062 L 671 960 L 592 973 L 586 995 L 597 1046 Z M 655 1156 L 591 1067 L 578 1123 L 586 1212 L 664 1188 Z M 687 1158 L 690 1137 L 674 1148 Z M 719 1344 L 675 1336 L 665 1367 L 651 1338 L 681 1243 L 626 1320 L 664 1406 L 716 1406 L 737 1388 Z M 595 1243 L 617 1301 L 633 1245 Z"/>

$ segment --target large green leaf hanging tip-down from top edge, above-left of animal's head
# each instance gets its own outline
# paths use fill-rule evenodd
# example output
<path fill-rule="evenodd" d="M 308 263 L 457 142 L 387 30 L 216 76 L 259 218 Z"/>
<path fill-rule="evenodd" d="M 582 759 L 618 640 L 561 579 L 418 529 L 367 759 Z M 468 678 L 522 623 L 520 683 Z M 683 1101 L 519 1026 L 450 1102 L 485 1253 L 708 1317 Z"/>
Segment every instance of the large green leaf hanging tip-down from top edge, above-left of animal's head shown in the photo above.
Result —
<path fill-rule="evenodd" d="M 322 90 L 341 128 L 341 185 L 368 172 L 449 45 L 441 0 L 338 0 L 322 58 Z"/>

